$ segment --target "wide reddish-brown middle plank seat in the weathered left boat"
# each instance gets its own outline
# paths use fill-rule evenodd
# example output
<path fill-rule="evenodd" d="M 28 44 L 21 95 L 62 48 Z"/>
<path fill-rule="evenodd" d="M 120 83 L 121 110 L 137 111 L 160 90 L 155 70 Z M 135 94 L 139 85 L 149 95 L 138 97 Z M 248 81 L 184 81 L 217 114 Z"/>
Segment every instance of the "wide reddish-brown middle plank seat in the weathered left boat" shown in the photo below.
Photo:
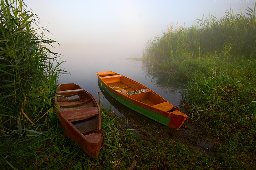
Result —
<path fill-rule="evenodd" d="M 84 119 L 87 117 L 99 115 L 99 111 L 97 107 L 89 107 L 89 108 L 83 108 L 83 109 L 63 111 L 62 115 L 66 119 L 68 119 L 68 121 L 72 121 L 72 120 Z"/>

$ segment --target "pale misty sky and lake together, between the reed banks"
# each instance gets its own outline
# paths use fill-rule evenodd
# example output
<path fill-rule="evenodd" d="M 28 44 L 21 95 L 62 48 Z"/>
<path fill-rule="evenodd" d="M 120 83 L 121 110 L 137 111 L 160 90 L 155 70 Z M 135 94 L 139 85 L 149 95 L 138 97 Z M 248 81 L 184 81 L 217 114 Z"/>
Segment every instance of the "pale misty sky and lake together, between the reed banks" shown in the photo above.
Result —
<path fill-rule="evenodd" d="M 111 70 L 142 83 L 175 106 L 180 91 L 170 92 L 142 71 L 142 61 L 127 58 L 141 58 L 148 40 L 161 35 L 167 25 L 190 27 L 203 13 L 219 18 L 232 8 L 235 14 L 253 5 L 230 2 L 25 0 L 41 26 L 51 32 L 45 35 L 60 44 L 51 50 L 62 54 L 61 61 L 66 62 L 61 68 L 70 73 L 59 78 L 60 84 L 76 83 L 97 98 L 96 72 Z"/>

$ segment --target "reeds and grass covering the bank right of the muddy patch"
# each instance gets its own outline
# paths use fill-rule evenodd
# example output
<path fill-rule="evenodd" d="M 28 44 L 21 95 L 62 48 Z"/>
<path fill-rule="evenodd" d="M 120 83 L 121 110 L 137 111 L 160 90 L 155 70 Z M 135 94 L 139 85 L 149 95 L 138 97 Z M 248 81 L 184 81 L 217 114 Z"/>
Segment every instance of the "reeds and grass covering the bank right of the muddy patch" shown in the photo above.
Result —
<path fill-rule="evenodd" d="M 204 15 L 203 15 L 204 16 Z M 148 42 L 143 52 L 149 74 L 185 80 L 185 108 L 206 136 L 221 140 L 218 168 L 255 169 L 256 17 L 226 12 L 174 29 Z"/>

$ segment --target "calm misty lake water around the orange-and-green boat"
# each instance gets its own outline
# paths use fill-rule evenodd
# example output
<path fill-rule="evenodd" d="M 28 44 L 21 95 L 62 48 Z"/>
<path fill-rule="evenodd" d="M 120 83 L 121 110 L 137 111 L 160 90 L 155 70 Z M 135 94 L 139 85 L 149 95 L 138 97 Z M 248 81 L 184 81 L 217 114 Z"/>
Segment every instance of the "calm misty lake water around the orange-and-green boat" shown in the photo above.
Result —
<path fill-rule="evenodd" d="M 146 71 L 143 71 L 142 69 L 143 62 L 140 60 L 136 61 L 126 58 L 104 58 L 100 59 L 100 61 L 97 60 L 97 58 L 92 58 L 86 61 L 81 60 L 80 62 L 76 59 L 68 60 L 69 61 L 66 60 L 67 63 L 64 63 L 64 68 L 62 65 L 62 69 L 65 69 L 70 74 L 62 75 L 62 77 L 59 78 L 59 83 L 75 83 L 80 85 L 83 89 L 90 92 L 97 100 L 99 100 L 98 92 L 100 91 L 100 87 L 98 85 L 98 77 L 96 73 L 101 71 L 113 71 L 140 82 L 174 106 L 179 106 L 180 104 L 181 89 L 177 88 L 177 86 L 173 89 L 171 84 L 173 82 L 169 82 L 168 86 L 162 85 L 161 82 L 156 81 L 156 78 L 147 75 L 147 73 L 145 73 Z M 109 96 L 108 93 L 102 94 L 102 92 L 100 92 L 100 97 L 102 100 L 101 104 L 104 105 L 105 108 L 108 108 L 109 105 L 114 106 L 113 111 L 117 115 L 125 116 L 128 113 L 138 116 L 137 112 L 125 107 Z"/>

